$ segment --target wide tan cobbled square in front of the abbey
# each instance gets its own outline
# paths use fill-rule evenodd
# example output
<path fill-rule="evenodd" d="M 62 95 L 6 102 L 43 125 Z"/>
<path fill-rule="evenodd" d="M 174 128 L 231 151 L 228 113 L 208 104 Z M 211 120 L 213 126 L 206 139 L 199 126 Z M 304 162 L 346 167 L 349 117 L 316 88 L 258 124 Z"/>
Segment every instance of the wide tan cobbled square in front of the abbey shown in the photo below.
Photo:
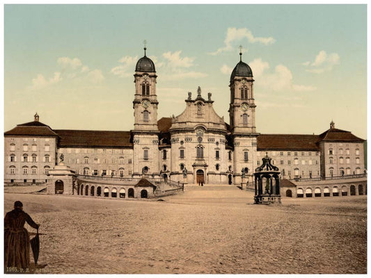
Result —
<path fill-rule="evenodd" d="M 367 196 L 253 205 L 235 186 L 149 200 L 5 193 L 40 223 L 39 273 L 366 273 Z M 34 231 L 27 227 L 29 231 Z"/>

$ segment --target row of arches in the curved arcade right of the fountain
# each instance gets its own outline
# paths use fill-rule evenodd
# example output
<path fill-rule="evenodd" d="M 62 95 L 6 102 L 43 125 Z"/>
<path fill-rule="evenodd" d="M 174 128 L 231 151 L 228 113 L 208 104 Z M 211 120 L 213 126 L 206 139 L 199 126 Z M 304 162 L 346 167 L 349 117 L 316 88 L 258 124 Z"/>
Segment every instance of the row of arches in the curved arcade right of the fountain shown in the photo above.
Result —
<path fill-rule="evenodd" d="M 358 186 L 351 185 L 349 188 L 348 186 L 333 186 L 329 187 L 326 186 L 324 188 L 297 188 L 297 197 L 330 197 L 330 196 L 348 196 L 348 195 L 363 195 L 367 194 L 367 188 L 364 190 L 362 184 L 358 184 Z M 286 197 L 292 197 L 292 190 L 287 189 L 285 193 Z"/>

